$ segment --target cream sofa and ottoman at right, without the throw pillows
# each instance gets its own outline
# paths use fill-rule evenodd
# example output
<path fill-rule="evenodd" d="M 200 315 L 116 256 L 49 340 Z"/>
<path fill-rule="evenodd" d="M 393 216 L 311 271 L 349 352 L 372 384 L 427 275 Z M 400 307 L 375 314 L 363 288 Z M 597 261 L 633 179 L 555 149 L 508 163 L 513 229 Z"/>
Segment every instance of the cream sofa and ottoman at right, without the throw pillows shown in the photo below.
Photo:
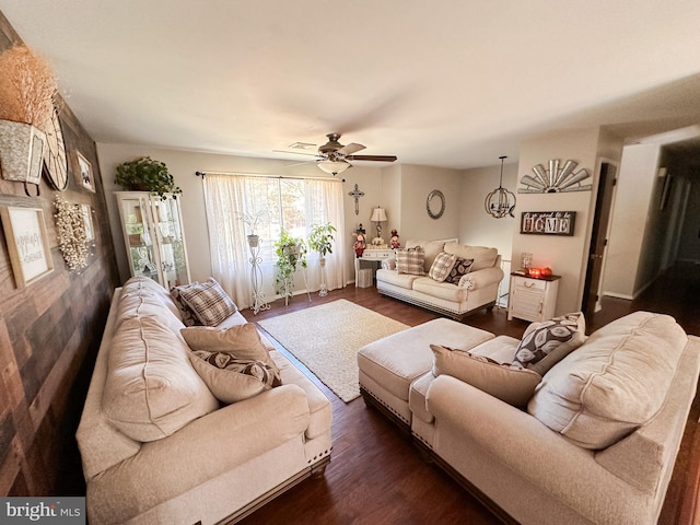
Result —
<path fill-rule="evenodd" d="M 696 395 L 700 338 L 666 315 L 628 315 L 555 364 L 516 407 L 434 375 L 429 343 L 513 359 L 517 339 L 468 328 L 435 319 L 361 349 L 368 405 L 505 523 L 655 524 Z"/>

